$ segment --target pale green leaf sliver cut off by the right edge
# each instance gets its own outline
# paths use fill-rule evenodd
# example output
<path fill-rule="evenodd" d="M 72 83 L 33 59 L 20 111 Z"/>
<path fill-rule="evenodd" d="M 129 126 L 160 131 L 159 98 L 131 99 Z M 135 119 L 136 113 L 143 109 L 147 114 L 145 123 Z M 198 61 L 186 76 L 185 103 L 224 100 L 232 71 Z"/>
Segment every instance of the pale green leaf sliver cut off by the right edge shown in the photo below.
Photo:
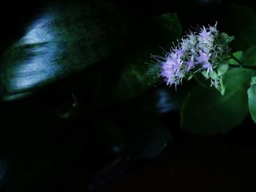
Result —
<path fill-rule="evenodd" d="M 256 77 L 252 77 L 251 87 L 248 89 L 248 104 L 249 112 L 252 116 L 252 120 L 256 123 Z"/>

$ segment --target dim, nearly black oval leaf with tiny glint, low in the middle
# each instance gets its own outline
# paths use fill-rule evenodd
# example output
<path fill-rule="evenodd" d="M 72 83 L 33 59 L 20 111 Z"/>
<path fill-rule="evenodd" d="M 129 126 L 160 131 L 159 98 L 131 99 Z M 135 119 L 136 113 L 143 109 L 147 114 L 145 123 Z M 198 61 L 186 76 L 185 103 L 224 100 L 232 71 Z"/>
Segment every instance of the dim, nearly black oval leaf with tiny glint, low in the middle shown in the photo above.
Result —
<path fill-rule="evenodd" d="M 172 139 L 167 127 L 156 115 L 121 115 L 105 118 L 94 128 L 105 150 L 132 158 L 159 155 Z"/>

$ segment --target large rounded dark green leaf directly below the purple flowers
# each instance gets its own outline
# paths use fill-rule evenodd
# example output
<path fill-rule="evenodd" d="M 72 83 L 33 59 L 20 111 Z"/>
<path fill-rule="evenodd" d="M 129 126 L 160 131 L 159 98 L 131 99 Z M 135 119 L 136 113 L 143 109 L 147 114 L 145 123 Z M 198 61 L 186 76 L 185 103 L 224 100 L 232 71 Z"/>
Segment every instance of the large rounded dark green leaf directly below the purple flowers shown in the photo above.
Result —
<path fill-rule="evenodd" d="M 225 95 L 195 87 L 181 109 L 181 127 L 195 134 L 222 134 L 238 126 L 248 113 L 247 94 L 253 71 L 230 69 L 225 74 Z"/>

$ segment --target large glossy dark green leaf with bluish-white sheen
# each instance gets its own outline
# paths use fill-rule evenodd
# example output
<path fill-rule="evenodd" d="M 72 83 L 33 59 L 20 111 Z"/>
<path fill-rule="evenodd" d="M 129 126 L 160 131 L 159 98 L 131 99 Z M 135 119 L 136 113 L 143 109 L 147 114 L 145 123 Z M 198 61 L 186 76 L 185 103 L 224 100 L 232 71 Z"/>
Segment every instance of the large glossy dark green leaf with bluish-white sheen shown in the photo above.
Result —
<path fill-rule="evenodd" d="M 103 1 L 45 7 L 1 57 L 0 99 L 42 88 L 108 58 L 127 42 L 127 18 L 121 7 Z"/>

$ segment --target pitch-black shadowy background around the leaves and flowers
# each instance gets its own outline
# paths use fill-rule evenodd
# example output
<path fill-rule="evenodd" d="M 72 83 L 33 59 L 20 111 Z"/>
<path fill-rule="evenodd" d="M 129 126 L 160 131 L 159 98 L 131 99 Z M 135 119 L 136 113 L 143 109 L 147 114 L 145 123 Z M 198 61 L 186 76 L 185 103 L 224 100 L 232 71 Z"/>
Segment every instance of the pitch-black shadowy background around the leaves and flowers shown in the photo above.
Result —
<path fill-rule="evenodd" d="M 177 12 L 183 30 L 225 17 L 230 1 L 129 1 L 136 17 Z M 236 1 L 253 5 L 250 1 Z M 120 4 L 120 2 L 118 2 Z M 45 1 L 0 5 L 0 52 Z M 256 7 L 255 7 L 256 8 Z M 222 28 L 220 23 L 220 28 Z M 70 77 L 80 82 L 83 75 Z M 255 188 L 256 131 L 251 118 L 225 135 L 200 137 L 179 128 L 178 112 L 161 114 L 173 140 L 160 155 L 136 159 L 108 153 L 95 139 L 98 116 L 64 119 L 54 110 L 72 100 L 67 80 L 0 104 L 0 191 L 219 191 Z M 70 83 L 70 85 L 73 85 Z M 112 112 L 115 106 L 103 108 Z M 170 119 L 171 117 L 171 119 Z M 122 119 L 129 121 L 129 116 Z"/>

